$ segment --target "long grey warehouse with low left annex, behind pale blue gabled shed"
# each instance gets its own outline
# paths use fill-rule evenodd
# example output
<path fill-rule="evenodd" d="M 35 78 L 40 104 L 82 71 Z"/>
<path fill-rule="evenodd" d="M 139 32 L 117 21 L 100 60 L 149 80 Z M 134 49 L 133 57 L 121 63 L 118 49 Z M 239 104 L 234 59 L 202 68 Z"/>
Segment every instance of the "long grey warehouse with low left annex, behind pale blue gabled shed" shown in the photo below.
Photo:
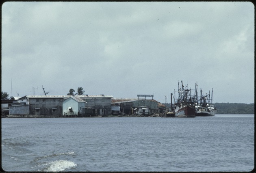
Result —
<path fill-rule="evenodd" d="M 28 95 L 9 106 L 8 117 L 63 117 L 63 102 L 69 95 Z M 77 95 L 85 101 L 85 109 L 93 115 L 111 115 L 111 98 L 108 95 Z M 79 112 L 80 113 L 80 112 Z M 86 114 L 86 112 L 85 112 Z"/>

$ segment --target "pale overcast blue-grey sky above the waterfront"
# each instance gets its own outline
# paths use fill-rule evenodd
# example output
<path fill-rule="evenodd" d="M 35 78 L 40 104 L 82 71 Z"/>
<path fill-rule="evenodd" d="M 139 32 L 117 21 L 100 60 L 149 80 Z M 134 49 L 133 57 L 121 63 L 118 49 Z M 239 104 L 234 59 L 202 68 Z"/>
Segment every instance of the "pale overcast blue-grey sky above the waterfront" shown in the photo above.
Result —
<path fill-rule="evenodd" d="M 2 91 L 170 103 L 178 82 L 254 103 L 251 2 L 5 2 Z M 147 97 L 151 99 L 151 97 Z"/>

